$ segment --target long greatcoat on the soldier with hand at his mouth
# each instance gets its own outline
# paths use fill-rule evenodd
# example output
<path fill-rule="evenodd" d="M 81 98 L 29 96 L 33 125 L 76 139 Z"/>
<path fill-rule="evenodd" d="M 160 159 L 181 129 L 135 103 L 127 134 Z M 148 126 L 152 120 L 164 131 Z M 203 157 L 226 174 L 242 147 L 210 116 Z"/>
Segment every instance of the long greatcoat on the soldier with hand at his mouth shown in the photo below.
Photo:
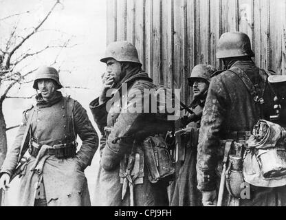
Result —
<path fill-rule="evenodd" d="M 95 190 L 96 199 L 94 201 L 96 206 L 130 206 L 129 191 L 122 199 L 120 161 L 124 155 L 131 153 L 132 148 L 140 151 L 142 142 L 135 141 L 133 134 L 135 131 L 143 132 L 143 122 L 148 124 L 148 122 L 153 120 L 151 113 L 143 113 L 144 96 L 141 96 L 144 89 L 155 87 L 148 74 L 142 71 L 141 68 L 131 69 L 126 72 L 122 85 L 127 85 L 127 93 L 122 92 L 118 97 L 120 101 L 121 98 L 126 97 L 127 105 L 122 104 L 122 102 L 113 102 L 111 109 L 108 109 L 108 101 L 99 104 L 98 98 L 90 104 L 94 120 L 102 133 L 100 140 L 100 168 Z M 121 89 L 118 89 L 118 91 L 121 91 Z M 142 110 L 141 113 L 130 110 L 130 107 L 134 107 L 134 104 L 137 109 Z M 118 107 L 120 108 L 116 111 L 115 109 Z M 137 129 L 134 129 L 134 126 Z M 110 130 L 104 131 L 104 127 Z M 142 178 L 143 181 L 134 185 L 134 205 L 167 206 L 168 195 L 166 186 L 164 184 L 151 184 L 148 181 L 148 170 L 142 160 L 144 159 L 143 157 L 140 153 L 140 173 L 138 178 Z"/>

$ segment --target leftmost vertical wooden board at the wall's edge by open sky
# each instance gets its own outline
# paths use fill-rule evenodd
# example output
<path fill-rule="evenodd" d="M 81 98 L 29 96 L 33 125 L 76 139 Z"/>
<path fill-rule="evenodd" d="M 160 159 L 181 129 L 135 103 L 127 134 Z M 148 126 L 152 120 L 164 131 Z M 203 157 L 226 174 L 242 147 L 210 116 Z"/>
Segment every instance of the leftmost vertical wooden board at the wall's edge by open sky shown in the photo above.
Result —
<path fill-rule="evenodd" d="M 107 0 L 107 45 L 117 38 L 117 1 Z"/>

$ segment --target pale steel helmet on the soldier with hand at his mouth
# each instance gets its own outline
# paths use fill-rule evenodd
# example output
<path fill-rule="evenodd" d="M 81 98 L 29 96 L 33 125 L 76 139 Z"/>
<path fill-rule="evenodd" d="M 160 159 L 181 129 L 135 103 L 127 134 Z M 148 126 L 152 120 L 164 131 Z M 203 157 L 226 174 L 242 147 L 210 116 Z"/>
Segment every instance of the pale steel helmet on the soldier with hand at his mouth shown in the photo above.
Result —
<path fill-rule="evenodd" d="M 142 65 L 138 58 L 136 47 L 128 41 L 115 41 L 107 46 L 105 56 L 100 61 L 107 63 L 107 60 L 113 58 L 118 62 L 132 62 Z"/>

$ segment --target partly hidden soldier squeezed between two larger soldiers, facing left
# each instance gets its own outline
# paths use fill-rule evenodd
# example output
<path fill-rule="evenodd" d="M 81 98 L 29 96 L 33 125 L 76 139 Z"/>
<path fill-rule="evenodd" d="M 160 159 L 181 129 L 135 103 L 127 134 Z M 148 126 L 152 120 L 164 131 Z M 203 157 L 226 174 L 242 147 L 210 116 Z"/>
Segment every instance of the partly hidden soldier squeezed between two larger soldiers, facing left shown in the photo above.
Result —
<path fill-rule="evenodd" d="M 176 132 L 177 136 L 181 136 L 179 149 L 186 153 L 176 179 L 171 206 L 201 206 L 201 193 L 197 189 L 197 142 L 210 77 L 214 72 L 216 69 L 211 65 L 199 64 L 192 69 L 188 78 L 194 99 L 189 107 L 191 113 L 184 110 L 181 117 L 181 127 L 184 129 Z"/>

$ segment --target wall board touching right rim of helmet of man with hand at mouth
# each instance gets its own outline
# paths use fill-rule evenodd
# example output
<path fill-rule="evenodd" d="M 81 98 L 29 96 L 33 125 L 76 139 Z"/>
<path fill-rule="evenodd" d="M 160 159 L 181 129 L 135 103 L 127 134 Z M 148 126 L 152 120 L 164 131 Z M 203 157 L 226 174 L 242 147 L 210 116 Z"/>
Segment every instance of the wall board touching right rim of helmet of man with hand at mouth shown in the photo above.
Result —
<path fill-rule="evenodd" d="M 145 68 L 145 0 L 135 0 L 135 47 L 138 51 L 139 60 Z"/>

